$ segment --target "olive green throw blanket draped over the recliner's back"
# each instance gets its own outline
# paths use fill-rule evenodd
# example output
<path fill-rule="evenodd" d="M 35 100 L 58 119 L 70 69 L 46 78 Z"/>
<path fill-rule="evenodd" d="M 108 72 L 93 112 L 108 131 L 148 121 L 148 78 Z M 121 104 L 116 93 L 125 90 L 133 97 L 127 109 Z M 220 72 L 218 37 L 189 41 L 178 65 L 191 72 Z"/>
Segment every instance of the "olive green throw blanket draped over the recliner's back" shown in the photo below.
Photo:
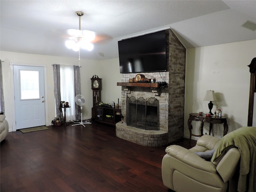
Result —
<path fill-rule="evenodd" d="M 221 158 L 231 146 L 236 146 L 241 154 L 238 192 L 256 192 L 256 127 L 241 127 L 225 135 L 212 162 Z"/>

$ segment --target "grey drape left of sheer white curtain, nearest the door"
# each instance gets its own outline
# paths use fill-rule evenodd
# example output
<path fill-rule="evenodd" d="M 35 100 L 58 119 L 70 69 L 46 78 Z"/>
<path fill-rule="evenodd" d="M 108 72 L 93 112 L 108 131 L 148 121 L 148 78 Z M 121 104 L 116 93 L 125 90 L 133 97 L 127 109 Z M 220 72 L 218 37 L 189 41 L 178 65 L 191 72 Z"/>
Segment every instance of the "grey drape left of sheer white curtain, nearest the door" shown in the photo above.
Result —
<path fill-rule="evenodd" d="M 60 65 L 53 64 L 53 78 L 54 78 L 54 97 L 55 97 L 55 113 L 56 117 L 64 118 L 62 108 L 60 107 Z"/>

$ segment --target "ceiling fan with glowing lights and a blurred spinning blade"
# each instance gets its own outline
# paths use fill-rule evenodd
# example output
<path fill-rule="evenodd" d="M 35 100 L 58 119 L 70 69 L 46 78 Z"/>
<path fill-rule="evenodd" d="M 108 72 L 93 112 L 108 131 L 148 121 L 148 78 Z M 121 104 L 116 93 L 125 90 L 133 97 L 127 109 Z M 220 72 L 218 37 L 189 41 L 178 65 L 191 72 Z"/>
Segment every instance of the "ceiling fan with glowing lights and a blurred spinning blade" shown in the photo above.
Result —
<path fill-rule="evenodd" d="M 65 42 L 67 48 L 73 49 L 74 51 L 79 51 L 80 48 L 91 51 L 94 48 L 92 43 L 110 39 L 110 37 L 106 35 L 96 36 L 93 31 L 81 30 L 81 16 L 84 15 L 84 12 L 76 11 L 76 15 L 79 17 L 79 29 L 68 30 L 70 37 L 69 40 Z"/>

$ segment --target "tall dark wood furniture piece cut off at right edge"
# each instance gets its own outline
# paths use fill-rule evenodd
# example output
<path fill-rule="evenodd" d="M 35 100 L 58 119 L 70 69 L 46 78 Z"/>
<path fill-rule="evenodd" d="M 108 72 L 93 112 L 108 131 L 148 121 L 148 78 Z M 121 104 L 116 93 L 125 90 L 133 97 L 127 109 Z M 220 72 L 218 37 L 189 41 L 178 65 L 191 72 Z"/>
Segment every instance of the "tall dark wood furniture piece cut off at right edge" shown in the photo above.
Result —
<path fill-rule="evenodd" d="M 250 68 L 251 80 L 247 126 L 252 126 L 254 93 L 256 92 L 256 57 L 252 59 L 252 62 L 250 65 L 248 65 L 248 67 Z"/>

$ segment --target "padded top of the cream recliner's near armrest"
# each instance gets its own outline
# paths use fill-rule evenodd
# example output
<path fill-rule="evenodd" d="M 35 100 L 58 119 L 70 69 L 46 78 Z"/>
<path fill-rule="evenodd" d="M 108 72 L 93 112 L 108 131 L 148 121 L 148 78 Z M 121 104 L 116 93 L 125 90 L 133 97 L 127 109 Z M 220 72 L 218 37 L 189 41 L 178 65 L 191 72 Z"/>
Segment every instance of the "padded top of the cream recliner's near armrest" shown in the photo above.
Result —
<path fill-rule="evenodd" d="M 184 164 L 207 172 L 216 173 L 216 166 L 212 164 L 212 162 L 204 160 L 197 154 L 182 146 L 171 145 L 168 146 L 165 151 L 170 156 L 173 156 L 181 162 L 184 162 Z"/>

